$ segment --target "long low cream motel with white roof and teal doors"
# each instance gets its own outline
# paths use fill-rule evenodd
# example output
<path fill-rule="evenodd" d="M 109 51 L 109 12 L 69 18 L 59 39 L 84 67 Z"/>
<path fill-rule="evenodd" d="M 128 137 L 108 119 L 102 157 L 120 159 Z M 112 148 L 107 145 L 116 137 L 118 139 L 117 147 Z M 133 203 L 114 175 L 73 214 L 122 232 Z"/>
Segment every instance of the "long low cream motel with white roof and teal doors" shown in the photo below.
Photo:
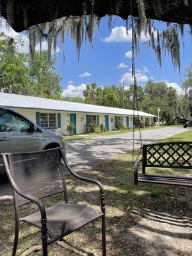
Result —
<path fill-rule="evenodd" d="M 67 135 L 67 124 L 76 125 L 74 133 L 86 132 L 86 125 L 95 121 L 103 124 L 109 131 L 115 130 L 116 122 L 129 128 L 133 127 L 133 111 L 131 109 L 109 108 L 63 100 L 52 100 L 40 97 L 0 93 L 0 106 L 5 106 L 28 117 L 43 129 L 51 129 Z M 135 112 L 138 115 L 137 111 Z M 154 115 L 139 111 L 140 120 L 150 125 Z"/>

